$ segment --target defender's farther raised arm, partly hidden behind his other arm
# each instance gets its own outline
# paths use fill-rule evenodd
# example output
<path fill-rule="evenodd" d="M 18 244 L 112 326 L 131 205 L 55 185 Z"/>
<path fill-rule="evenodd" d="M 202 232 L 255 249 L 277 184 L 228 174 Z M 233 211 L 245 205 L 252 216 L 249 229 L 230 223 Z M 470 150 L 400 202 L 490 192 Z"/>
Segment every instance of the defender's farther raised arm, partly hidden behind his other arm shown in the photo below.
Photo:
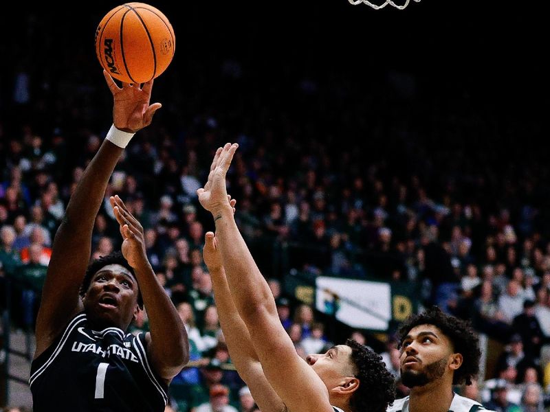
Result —
<path fill-rule="evenodd" d="M 231 202 L 234 205 L 234 200 Z M 252 398 L 262 412 L 283 411 L 285 404 L 265 378 L 248 329 L 235 308 L 221 264 L 217 240 L 214 233 L 210 231 L 206 233 L 204 239 L 203 259 L 212 277 L 219 323 L 236 371 L 250 388 Z"/>

